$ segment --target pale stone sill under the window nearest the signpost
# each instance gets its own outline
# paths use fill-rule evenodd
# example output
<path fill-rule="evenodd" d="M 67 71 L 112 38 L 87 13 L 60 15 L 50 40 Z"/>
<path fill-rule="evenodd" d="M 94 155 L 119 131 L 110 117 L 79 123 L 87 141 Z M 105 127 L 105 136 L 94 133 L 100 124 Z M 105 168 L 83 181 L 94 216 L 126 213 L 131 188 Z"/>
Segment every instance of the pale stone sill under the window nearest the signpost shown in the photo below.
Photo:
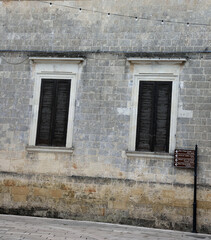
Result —
<path fill-rule="evenodd" d="M 127 157 L 140 157 L 149 159 L 161 159 L 161 160 L 172 160 L 174 157 L 170 153 L 160 152 L 139 152 L 139 151 L 126 151 Z"/>

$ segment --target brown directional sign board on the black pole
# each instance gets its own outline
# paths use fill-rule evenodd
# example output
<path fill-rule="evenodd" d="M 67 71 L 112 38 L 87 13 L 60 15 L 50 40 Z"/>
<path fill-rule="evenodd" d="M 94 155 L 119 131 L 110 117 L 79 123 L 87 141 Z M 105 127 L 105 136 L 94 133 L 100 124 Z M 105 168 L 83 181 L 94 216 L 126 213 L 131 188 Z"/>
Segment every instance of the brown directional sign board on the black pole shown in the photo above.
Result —
<path fill-rule="evenodd" d="M 194 168 L 194 150 L 175 149 L 174 166 L 180 168 Z"/>

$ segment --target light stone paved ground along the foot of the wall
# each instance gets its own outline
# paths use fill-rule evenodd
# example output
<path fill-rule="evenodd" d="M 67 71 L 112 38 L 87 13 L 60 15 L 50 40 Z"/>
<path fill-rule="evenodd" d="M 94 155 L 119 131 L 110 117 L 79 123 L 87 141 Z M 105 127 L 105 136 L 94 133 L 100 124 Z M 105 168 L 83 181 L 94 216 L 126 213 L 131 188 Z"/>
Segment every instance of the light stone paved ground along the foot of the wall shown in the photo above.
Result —
<path fill-rule="evenodd" d="M 0 215 L 4 240 L 211 240 L 211 235 L 134 227 L 127 225 Z"/>

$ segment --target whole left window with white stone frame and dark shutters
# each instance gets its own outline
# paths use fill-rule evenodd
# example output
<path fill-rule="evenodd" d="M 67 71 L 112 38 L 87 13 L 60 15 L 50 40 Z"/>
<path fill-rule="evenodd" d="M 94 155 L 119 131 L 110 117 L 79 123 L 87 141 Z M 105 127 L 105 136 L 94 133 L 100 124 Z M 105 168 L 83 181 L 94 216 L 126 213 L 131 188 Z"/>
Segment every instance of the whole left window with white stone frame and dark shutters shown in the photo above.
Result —
<path fill-rule="evenodd" d="M 76 87 L 82 61 L 31 58 L 34 94 L 28 150 L 72 148 Z"/>

